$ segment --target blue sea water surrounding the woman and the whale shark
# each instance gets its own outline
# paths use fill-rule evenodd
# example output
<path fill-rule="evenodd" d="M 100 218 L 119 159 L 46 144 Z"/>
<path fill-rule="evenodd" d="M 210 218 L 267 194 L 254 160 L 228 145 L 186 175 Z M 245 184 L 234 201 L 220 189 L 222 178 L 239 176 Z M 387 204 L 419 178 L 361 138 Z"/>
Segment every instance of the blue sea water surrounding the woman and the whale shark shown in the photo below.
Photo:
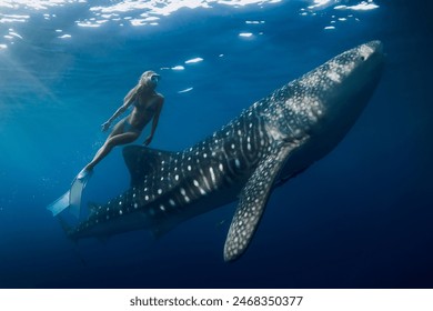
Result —
<path fill-rule="evenodd" d="M 429 1 L 49 2 L 0 4 L 0 288 L 433 287 Z M 159 240 L 135 231 L 78 245 L 46 210 L 143 71 L 163 77 L 152 147 L 182 150 L 373 39 L 386 66 L 367 108 L 338 148 L 274 191 L 239 261 L 222 259 L 234 203 Z M 128 183 L 118 148 L 83 200 L 105 202 Z"/>

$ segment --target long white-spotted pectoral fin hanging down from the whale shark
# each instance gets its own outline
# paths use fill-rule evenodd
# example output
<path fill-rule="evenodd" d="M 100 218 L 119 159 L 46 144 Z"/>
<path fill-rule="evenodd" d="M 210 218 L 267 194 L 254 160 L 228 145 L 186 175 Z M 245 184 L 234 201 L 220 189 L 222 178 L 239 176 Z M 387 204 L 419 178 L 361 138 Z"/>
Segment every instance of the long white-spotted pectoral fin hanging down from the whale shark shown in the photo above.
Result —
<path fill-rule="evenodd" d="M 292 148 L 282 147 L 263 159 L 242 189 L 224 244 L 224 261 L 241 257 L 263 214 L 272 185 Z"/>

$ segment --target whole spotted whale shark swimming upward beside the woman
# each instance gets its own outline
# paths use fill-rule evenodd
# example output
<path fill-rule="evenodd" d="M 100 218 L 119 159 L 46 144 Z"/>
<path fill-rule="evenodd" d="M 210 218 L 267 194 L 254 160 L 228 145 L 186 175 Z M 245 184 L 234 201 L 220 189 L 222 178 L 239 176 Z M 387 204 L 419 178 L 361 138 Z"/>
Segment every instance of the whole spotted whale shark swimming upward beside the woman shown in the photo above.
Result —
<path fill-rule="evenodd" d="M 383 47 L 371 41 L 332 58 L 254 102 L 183 151 L 127 146 L 130 188 L 66 228 L 72 240 L 150 230 L 238 201 L 223 259 L 248 249 L 275 189 L 329 153 L 360 117 L 382 74 Z"/>

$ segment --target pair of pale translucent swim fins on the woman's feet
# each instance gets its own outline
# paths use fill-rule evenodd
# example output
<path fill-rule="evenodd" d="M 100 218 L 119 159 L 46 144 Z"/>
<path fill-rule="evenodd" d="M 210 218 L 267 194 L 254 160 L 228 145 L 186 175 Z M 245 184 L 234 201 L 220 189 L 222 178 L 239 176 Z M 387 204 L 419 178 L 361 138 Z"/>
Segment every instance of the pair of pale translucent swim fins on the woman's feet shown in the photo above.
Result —
<path fill-rule="evenodd" d="M 71 188 L 47 207 L 47 209 L 52 212 L 53 217 L 68 209 L 75 218 L 80 218 L 81 194 L 90 177 L 91 172 L 88 172 L 85 175 L 80 172 L 72 181 Z"/>

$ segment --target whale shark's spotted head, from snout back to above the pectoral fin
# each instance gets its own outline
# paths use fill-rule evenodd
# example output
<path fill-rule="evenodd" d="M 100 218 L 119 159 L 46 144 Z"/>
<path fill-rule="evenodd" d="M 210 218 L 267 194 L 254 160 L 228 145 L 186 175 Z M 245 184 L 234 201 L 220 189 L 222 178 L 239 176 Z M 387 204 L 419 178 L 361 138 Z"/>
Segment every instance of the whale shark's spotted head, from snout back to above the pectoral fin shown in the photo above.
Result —
<path fill-rule="evenodd" d="M 383 47 L 371 41 L 348 50 L 275 91 L 281 113 L 270 117 L 288 140 L 305 137 L 335 144 L 369 102 L 383 68 Z M 274 110 L 275 111 L 275 110 Z"/>

